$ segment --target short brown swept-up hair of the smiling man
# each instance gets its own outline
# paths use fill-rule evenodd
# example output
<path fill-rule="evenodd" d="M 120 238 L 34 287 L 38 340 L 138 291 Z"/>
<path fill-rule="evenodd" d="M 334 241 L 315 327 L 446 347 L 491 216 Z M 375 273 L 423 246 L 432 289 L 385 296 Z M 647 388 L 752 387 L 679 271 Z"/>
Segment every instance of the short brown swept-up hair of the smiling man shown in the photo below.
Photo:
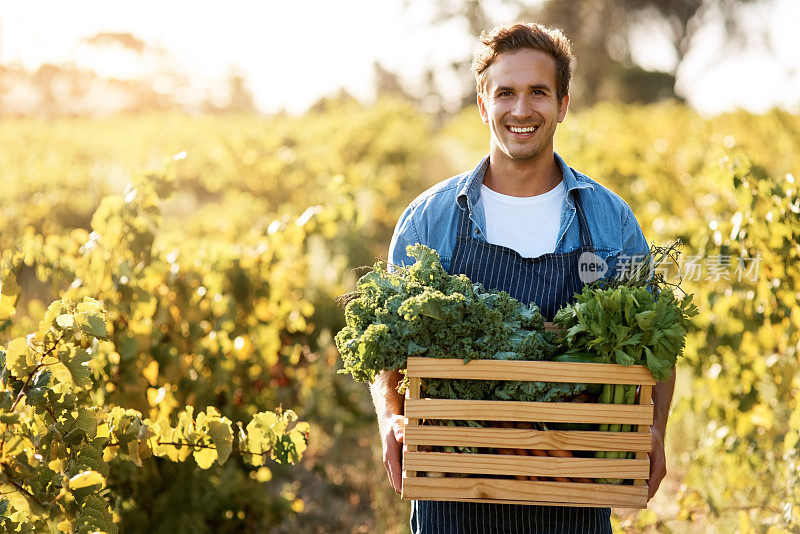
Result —
<path fill-rule="evenodd" d="M 572 43 L 557 28 L 548 28 L 535 22 L 517 22 L 497 26 L 491 31 L 483 31 L 478 39 L 478 47 L 472 58 L 470 70 L 475 75 L 476 90 L 486 91 L 486 70 L 504 52 L 531 48 L 549 54 L 556 62 L 556 97 L 558 101 L 569 94 L 569 80 L 575 58 Z"/>

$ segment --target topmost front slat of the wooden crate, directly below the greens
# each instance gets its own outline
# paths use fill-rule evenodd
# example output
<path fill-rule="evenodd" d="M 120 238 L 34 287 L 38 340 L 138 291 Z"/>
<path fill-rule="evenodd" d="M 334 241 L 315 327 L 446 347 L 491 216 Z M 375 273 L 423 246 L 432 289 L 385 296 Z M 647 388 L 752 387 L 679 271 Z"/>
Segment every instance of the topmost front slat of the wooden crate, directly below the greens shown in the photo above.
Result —
<path fill-rule="evenodd" d="M 560 363 L 510 360 L 463 360 L 408 358 L 407 376 L 472 380 L 522 380 L 582 384 L 653 385 L 655 380 L 642 365 L 610 363 Z"/>

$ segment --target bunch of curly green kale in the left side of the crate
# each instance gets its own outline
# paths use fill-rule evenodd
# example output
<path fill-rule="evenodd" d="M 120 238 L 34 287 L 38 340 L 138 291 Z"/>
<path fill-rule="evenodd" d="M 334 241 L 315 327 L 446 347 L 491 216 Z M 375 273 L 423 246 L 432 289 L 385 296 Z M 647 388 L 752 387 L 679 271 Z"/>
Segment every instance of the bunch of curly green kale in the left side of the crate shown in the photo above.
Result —
<path fill-rule="evenodd" d="M 357 285 L 345 308 L 346 326 L 336 335 L 344 368 L 372 382 L 383 371 L 404 370 L 409 356 L 497 360 L 549 360 L 556 335 L 545 330 L 535 304 L 486 290 L 466 276 L 450 275 L 439 255 L 424 245 L 408 247 L 417 261 L 389 272 L 380 264 Z M 583 384 L 428 379 L 432 398 L 558 401 Z"/>

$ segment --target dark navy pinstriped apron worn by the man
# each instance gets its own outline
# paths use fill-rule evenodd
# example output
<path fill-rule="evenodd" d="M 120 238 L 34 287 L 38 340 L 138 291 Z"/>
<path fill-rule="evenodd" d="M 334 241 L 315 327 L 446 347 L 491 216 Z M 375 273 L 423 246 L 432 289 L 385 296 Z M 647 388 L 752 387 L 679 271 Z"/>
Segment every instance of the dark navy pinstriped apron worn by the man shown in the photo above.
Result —
<path fill-rule="evenodd" d="M 577 190 L 572 191 L 580 225 L 580 247 L 572 252 L 523 258 L 516 251 L 480 241 L 472 235 L 469 207 L 461 209 L 451 274 L 465 274 L 487 289 L 508 292 L 534 302 L 547 320 L 580 292 L 578 258 L 593 252 L 592 238 Z M 414 534 L 610 533 L 610 508 L 528 506 L 449 501 L 412 501 Z"/>

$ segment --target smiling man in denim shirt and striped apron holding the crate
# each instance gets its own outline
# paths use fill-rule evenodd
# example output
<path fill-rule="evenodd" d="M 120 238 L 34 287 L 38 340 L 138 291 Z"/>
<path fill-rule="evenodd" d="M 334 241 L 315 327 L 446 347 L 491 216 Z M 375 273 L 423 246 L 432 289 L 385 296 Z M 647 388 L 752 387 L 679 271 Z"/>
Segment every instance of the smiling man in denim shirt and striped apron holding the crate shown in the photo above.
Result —
<path fill-rule="evenodd" d="M 414 200 L 400 217 L 389 250 L 410 265 L 406 246 L 437 250 L 452 274 L 463 273 L 523 302 L 546 319 L 579 292 L 583 263 L 613 265 L 648 251 L 628 205 L 568 167 L 553 135 L 569 105 L 574 60 L 559 30 L 512 24 L 484 32 L 472 70 L 478 110 L 489 126 L 490 152 L 472 171 L 445 180 Z M 403 398 L 399 373 L 384 373 L 372 397 L 384 465 L 401 491 Z M 653 390 L 655 421 L 650 497 L 666 474 L 664 429 L 674 376 Z M 611 532 L 610 509 L 415 501 L 411 528 L 427 532 Z"/>

